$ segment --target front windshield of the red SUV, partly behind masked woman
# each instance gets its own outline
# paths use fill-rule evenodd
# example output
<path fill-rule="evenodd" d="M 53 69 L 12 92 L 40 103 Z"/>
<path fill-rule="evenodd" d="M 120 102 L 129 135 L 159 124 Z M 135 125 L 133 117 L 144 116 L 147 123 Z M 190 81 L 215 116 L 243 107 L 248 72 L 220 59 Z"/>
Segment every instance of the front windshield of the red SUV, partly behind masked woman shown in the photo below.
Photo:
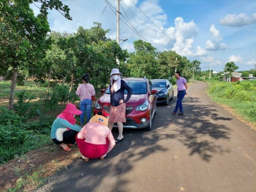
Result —
<path fill-rule="evenodd" d="M 132 88 L 132 95 L 141 95 L 146 94 L 146 82 L 145 81 L 125 81 L 130 88 Z M 110 94 L 109 87 L 106 89 L 105 93 Z M 127 94 L 127 91 L 124 91 L 124 94 Z"/>

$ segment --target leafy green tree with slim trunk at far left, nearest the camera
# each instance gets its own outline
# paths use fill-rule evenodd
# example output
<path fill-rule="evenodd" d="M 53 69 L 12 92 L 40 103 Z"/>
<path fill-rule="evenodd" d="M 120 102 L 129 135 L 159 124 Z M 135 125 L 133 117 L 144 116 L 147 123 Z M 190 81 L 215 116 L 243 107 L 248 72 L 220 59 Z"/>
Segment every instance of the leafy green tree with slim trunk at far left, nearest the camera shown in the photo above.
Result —
<path fill-rule="evenodd" d="M 37 17 L 29 6 L 33 2 L 42 3 L 41 14 Z M 71 19 L 68 6 L 63 6 L 59 0 L 0 1 L 0 75 L 9 75 L 12 79 L 10 108 L 13 108 L 17 74 L 35 73 L 50 45 L 50 39 L 46 39 L 50 31 L 48 9 L 60 10 Z"/>

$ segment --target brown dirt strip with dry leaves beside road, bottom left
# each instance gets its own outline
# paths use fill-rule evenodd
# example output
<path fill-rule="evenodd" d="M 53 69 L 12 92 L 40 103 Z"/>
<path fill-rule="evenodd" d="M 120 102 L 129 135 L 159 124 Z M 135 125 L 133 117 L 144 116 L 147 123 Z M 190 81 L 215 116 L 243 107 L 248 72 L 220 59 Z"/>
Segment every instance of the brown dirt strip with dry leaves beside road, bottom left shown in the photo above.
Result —
<path fill-rule="evenodd" d="M 76 145 L 70 148 L 72 151 L 64 151 L 57 145 L 46 145 L 1 165 L 0 191 L 7 192 L 9 188 L 15 188 L 17 182 L 21 182 L 24 184 L 19 191 L 26 189 L 26 192 L 32 192 L 40 184 L 37 178 L 47 179 L 57 170 L 67 168 L 80 156 Z"/>

